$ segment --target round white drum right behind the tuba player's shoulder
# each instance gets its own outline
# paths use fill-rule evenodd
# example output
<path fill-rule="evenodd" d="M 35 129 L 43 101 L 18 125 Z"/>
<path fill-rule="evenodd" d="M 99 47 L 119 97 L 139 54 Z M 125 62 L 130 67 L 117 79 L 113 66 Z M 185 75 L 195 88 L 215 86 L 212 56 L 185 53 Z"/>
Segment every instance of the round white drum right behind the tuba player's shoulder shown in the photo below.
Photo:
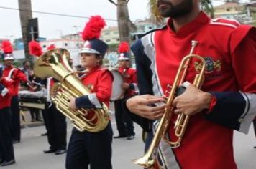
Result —
<path fill-rule="evenodd" d="M 122 77 L 122 74 L 118 72 L 117 70 L 111 69 L 111 74 L 113 74 L 114 82 L 112 84 L 112 94 L 111 94 L 111 100 L 119 100 L 124 97 L 124 89 L 122 88 L 122 84 L 124 82 L 124 79 Z"/>

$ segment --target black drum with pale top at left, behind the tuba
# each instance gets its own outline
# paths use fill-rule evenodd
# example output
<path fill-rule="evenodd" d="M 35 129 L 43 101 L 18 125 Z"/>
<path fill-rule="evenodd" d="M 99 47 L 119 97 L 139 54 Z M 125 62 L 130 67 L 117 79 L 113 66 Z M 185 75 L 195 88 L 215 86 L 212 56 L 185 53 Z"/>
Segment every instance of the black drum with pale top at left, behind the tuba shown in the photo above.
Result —
<path fill-rule="evenodd" d="M 46 97 L 43 92 L 19 91 L 19 107 L 45 109 Z"/>

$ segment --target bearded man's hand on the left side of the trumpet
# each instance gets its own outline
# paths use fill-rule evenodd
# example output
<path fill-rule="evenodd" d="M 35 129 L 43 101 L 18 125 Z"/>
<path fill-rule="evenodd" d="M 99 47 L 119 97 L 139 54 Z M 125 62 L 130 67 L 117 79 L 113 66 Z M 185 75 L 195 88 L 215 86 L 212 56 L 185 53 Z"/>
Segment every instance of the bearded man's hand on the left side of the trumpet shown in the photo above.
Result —
<path fill-rule="evenodd" d="M 164 102 L 164 97 L 153 95 L 137 95 L 127 100 L 127 108 L 130 112 L 150 120 L 157 120 L 163 116 L 166 105 L 152 107 L 152 104 Z"/>

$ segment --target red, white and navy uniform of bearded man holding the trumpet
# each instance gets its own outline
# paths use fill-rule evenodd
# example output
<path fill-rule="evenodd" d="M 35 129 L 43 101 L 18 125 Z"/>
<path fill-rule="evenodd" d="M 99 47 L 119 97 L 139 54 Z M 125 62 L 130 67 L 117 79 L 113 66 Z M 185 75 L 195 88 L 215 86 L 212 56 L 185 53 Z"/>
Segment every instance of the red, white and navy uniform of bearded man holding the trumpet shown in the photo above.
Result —
<path fill-rule="evenodd" d="M 211 20 L 204 12 L 178 32 L 173 32 L 171 22 L 170 19 L 163 29 L 150 32 L 132 47 L 140 94 L 165 95 L 181 59 L 191 50 L 191 41 L 196 40 L 198 45 L 193 54 L 207 62 L 202 90 L 213 91 L 217 101 L 209 115 L 202 112 L 191 116 L 179 148 L 172 149 L 161 141 L 159 154 L 163 166 L 237 168 L 232 129 L 247 132 L 256 114 L 256 30 L 237 21 Z M 186 81 L 193 83 L 200 69 L 201 62 L 193 59 Z M 169 135 L 173 139 L 173 122 L 170 124 Z"/>

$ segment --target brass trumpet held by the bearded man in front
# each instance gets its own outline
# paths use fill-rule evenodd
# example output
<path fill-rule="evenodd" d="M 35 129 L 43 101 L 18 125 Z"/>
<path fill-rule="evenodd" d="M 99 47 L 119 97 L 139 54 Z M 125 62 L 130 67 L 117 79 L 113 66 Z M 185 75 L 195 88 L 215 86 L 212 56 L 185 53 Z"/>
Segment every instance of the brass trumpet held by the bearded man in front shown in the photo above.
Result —
<path fill-rule="evenodd" d="M 158 165 L 159 168 L 163 168 L 162 166 L 160 166 L 160 163 L 157 161 L 158 148 L 160 145 L 160 141 L 163 139 L 165 142 L 167 142 L 170 145 L 171 148 L 178 148 L 181 144 L 183 135 L 186 131 L 189 116 L 180 114 L 178 115 L 177 120 L 175 121 L 175 136 L 178 139 L 174 141 L 169 140 L 165 135 L 166 133 L 168 133 L 170 118 L 173 116 L 174 107 L 172 105 L 173 105 L 173 100 L 175 99 L 176 90 L 178 89 L 180 84 L 183 84 L 184 82 L 191 59 L 196 58 L 202 62 L 201 72 L 196 74 L 196 77 L 194 78 L 194 81 L 193 81 L 193 85 L 197 88 L 201 88 L 201 85 L 204 82 L 204 70 L 206 69 L 206 62 L 203 57 L 193 54 L 193 50 L 195 49 L 198 42 L 192 41 L 191 43 L 192 43 L 191 52 L 186 57 L 184 57 L 180 63 L 178 72 L 173 82 L 173 87 L 170 90 L 170 95 L 166 102 L 167 108 L 165 108 L 165 113 L 158 124 L 157 130 L 150 144 L 150 148 L 148 148 L 147 152 L 145 153 L 144 156 L 142 156 L 142 158 L 133 160 L 133 163 L 137 165 L 141 165 L 144 168 L 155 168 L 156 165 Z"/>

